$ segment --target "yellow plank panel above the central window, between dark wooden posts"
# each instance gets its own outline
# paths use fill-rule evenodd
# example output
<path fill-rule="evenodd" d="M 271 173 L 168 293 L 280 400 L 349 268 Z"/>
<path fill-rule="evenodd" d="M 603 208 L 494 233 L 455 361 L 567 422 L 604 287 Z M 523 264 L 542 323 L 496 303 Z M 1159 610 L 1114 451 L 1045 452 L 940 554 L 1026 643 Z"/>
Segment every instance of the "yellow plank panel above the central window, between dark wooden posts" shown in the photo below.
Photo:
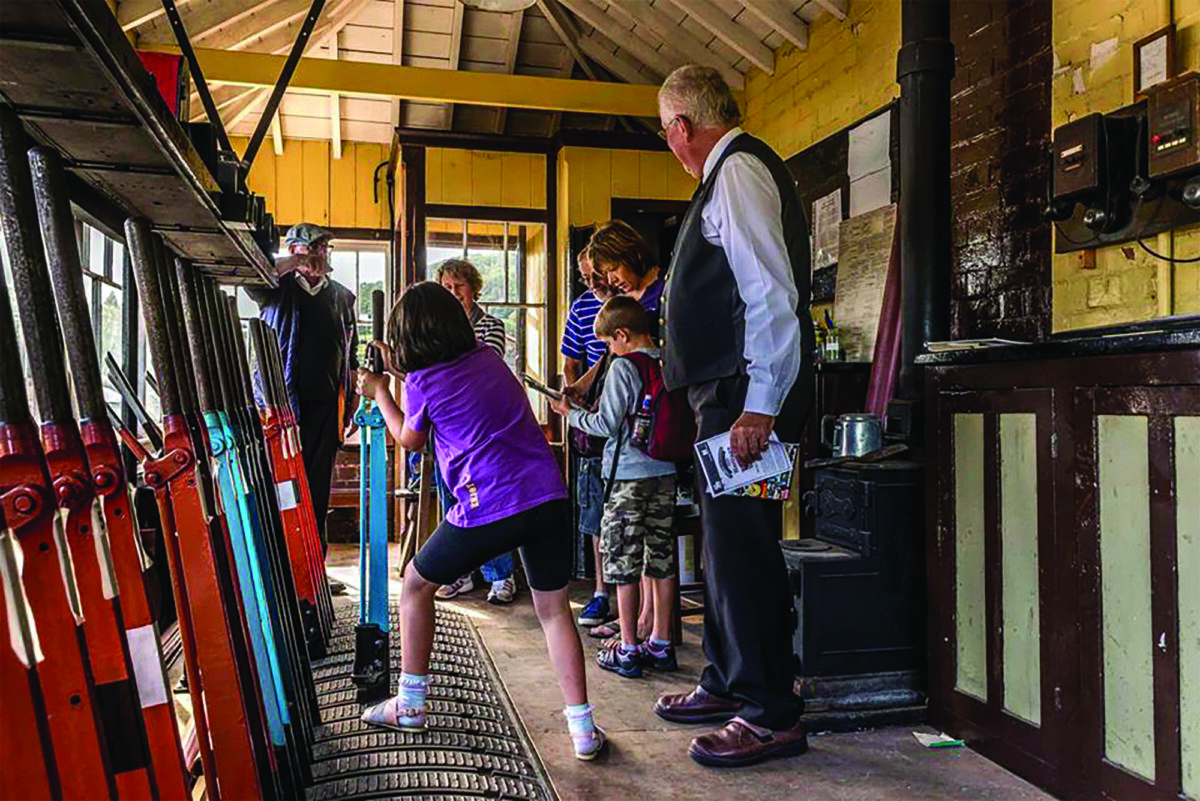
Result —
<path fill-rule="evenodd" d="M 546 157 L 428 147 L 425 201 L 470 206 L 546 207 Z"/>

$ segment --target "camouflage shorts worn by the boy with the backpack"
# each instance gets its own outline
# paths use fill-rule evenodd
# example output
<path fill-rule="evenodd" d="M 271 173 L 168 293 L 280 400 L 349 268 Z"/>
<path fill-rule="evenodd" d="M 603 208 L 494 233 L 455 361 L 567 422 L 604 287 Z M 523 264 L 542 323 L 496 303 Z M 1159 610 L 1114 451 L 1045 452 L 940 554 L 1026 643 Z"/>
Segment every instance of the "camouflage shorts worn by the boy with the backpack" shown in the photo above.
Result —
<path fill-rule="evenodd" d="M 674 576 L 674 476 L 618 481 L 600 520 L 604 580 L 636 584 Z"/>

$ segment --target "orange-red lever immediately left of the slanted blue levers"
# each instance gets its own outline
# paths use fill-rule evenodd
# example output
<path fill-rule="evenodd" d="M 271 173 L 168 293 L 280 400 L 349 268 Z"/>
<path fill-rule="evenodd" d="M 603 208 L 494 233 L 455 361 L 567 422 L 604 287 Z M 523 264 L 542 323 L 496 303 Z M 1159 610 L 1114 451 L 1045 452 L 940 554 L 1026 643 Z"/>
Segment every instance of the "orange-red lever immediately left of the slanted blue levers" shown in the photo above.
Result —
<path fill-rule="evenodd" d="M 197 450 L 180 404 L 150 225 L 130 219 L 125 234 L 163 412 L 166 453 L 144 463 L 145 480 L 155 490 L 166 532 L 206 789 L 212 799 L 257 799 L 264 796 L 270 776 L 262 775 L 263 743 L 251 719 L 258 703 L 253 682 L 247 686 L 239 666 L 241 610 L 222 592 L 221 554 L 214 553 L 209 530 L 216 520 L 198 483 Z"/>

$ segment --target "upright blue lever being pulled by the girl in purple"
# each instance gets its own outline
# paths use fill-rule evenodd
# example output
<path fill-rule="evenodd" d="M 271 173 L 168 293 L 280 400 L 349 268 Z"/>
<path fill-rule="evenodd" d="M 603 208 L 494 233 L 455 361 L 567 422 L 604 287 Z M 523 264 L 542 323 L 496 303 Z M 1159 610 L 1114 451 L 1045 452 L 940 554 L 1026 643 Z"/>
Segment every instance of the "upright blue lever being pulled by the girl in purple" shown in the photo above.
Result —
<path fill-rule="evenodd" d="M 371 293 L 374 339 L 383 339 L 383 291 Z M 383 357 L 371 349 L 371 372 L 383 373 Z M 359 625 L 354 671 L 359 699 L 386 695 L 391 685 L 388 644 L 388 433 L 383 411 L 364 397 L 354 412 L 362 433 L 359 445 Z"/>

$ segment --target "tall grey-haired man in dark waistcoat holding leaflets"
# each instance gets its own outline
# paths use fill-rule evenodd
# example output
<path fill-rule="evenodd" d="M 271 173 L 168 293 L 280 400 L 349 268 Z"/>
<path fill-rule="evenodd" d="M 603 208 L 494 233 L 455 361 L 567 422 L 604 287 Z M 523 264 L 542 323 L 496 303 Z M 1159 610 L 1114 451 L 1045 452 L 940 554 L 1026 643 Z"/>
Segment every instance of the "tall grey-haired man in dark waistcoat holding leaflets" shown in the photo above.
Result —
<path fill-rule="evenodd" d="M 688 387 L 701 440 L 731 432 L 757 460 L 772 433 L 799 440 L 814 395 L 809 231 L 782 159 L 742 131 L 737 101 L 709 67 L 676 70 L 659 90 L 662 135 L 700 187 L 679 229 L 661 307 L 662 371 Z M 703 480 L 701 480 L 703 481 Z M 701 492 L 708 666 L 662 718 L 728 721 L 696 737 L 701 764 L 749 765 L 808 748 L 792 692 L 796 616 L 778 501 Z"/>

